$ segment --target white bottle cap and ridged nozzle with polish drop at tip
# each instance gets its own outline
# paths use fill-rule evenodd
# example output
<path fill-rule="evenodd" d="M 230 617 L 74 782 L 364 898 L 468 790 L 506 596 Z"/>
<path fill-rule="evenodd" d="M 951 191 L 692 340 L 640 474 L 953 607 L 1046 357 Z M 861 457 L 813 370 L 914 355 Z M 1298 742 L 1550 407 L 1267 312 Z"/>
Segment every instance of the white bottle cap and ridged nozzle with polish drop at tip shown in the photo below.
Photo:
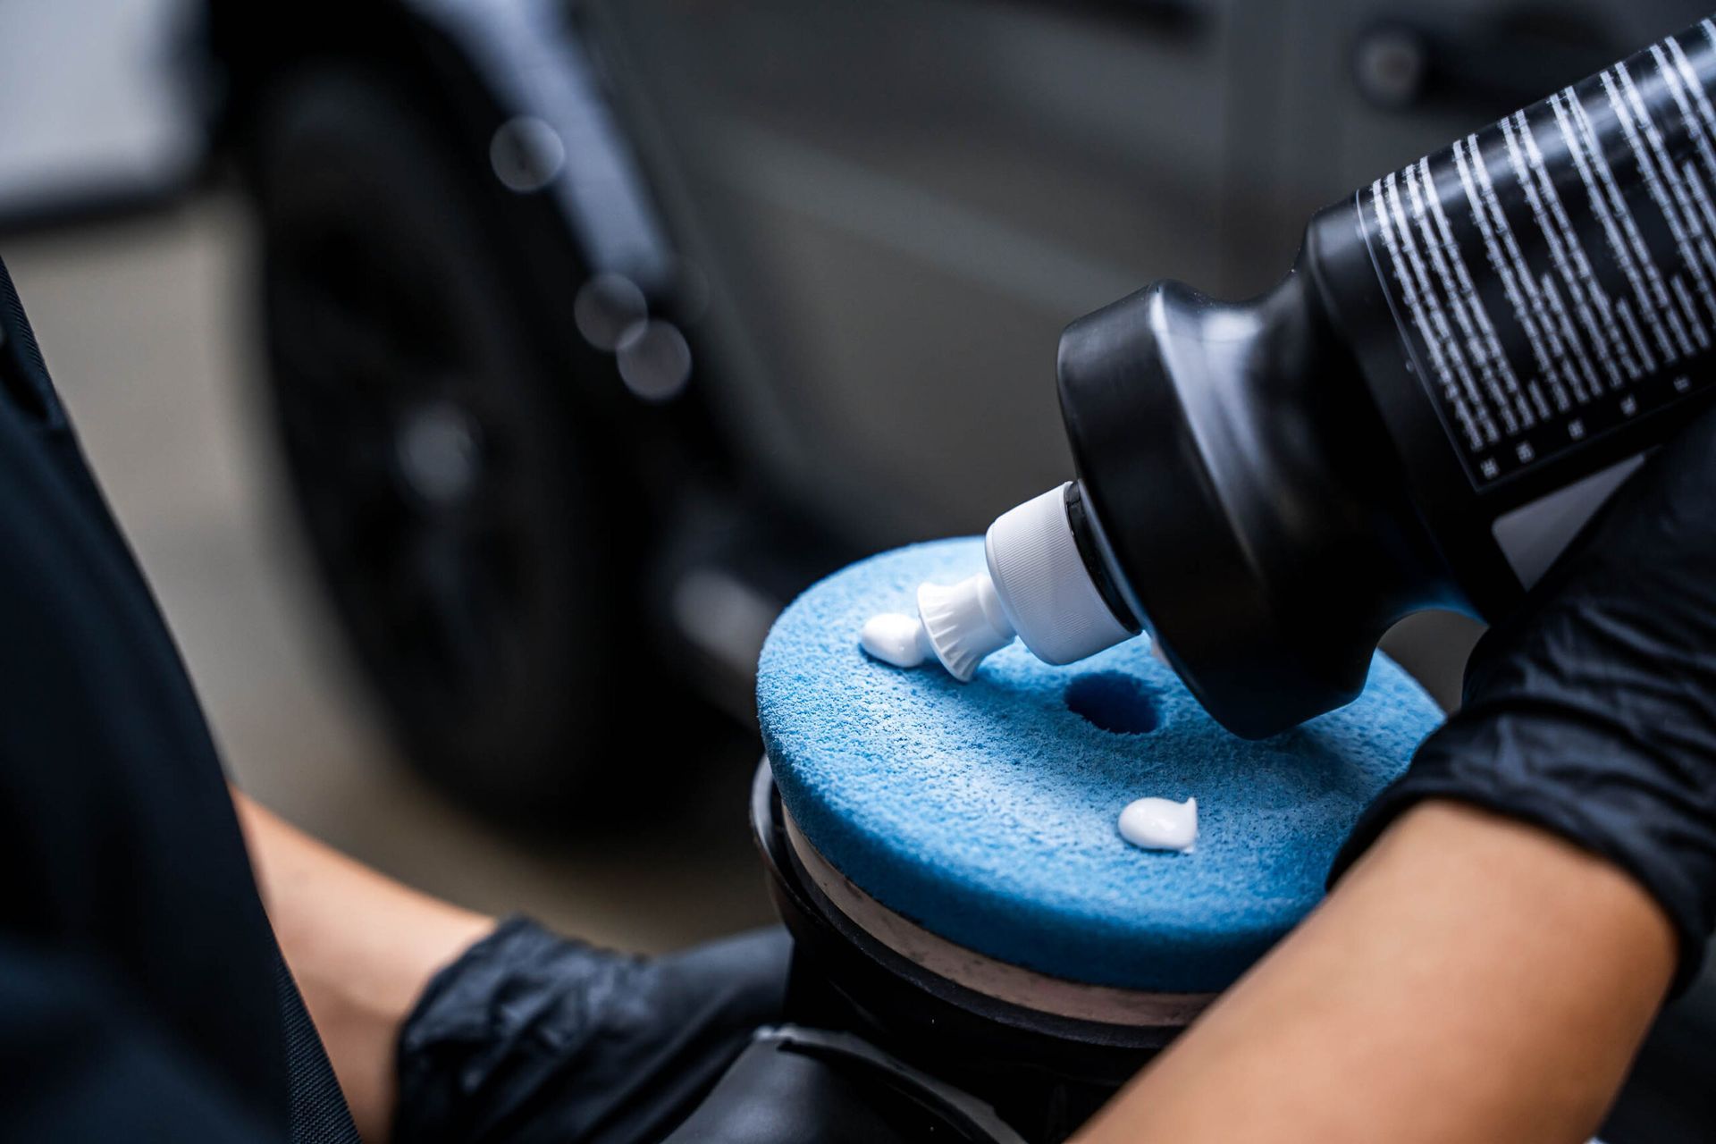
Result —
<path fill-rule="evenodd" d="M 1079 554 L 1067 509 L 1074 496 L 1066 484 L 997 516 L 983 540 L 983 571 L 956 585 L 920 585 L 918 617 L 872 617 L 860 633 L 863 648 L 896 667 L 934 655 L 970 683 L 1014 636 L 1048 664 L 1072 664 L 1133 636 Z"/>

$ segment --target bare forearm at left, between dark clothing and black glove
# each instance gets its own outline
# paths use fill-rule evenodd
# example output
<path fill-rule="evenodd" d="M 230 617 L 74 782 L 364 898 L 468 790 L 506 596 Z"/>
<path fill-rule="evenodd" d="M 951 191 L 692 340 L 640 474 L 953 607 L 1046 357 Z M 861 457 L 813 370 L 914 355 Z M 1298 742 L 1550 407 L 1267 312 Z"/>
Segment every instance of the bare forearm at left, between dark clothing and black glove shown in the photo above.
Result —
<path fill-rule="evenodd" d="M 494 921 L 419 894 L 233 794 L 251 864 L 369 1144 L 388 1137 L 395 1043 L 429 978 Z"/>

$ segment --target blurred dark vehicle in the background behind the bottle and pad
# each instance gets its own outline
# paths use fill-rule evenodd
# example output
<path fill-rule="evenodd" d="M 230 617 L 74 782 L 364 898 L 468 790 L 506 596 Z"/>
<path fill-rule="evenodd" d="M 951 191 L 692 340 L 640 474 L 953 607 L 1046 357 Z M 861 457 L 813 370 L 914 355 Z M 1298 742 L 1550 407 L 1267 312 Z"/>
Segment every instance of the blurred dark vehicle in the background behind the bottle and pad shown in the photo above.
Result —
<path fill-rule="evenodd" d="M 391 105 L 371 117 L 372 135 L 415 137 L 417 158 L 364 180 L 400 201 L 424 197 L 414 187 L 426 182 L 450 189 L 441 197 L 462 204 L 460 218 L 431 237 L 472 235 L 446 276 L 480 250 L 508 297 L 505 316 L 475 324 L 511 326 L 494 338 L 532 367 L 480 389 L 547 391 L 565 406 L 566 420 L 546 429 L 523 413 L 535 403 L 520 401 L 503 425 L 468 415 L 468 393 L 443 393 L 427 417 L 424 401 L 372 410 L 381 427 L 352 448 L 408 456 L 412 425 L 438 429 L 455 453 L 460 439 L 534 434 L 537 453 L 601 470 L 570 479 L 566 494 L 606 503 L 582 527 L 619 537 L 607 564 L 625 564 L 625 587 L 602 569 L 563 571 L 563 599 L 539 604 L 575 614 L 604 599 L 630 619 L 561 643 L 594 662 L 645 633 L 661 648 L 657 677 L 685 676 L 745 712 L 767 619 L 808 576 L 982 530 L 1069 475 L 1052 384 L 1067 321 L 1162 276 L 1229 297 L 1261 290 L 1316 208 L 1699 15 L 1680 0 L 211 0 L 208 12 L 218 151 L 249 173 L 264 261 L 280 269 L 264 305 L 276 393 L 316 425 L 295 434 L 283 417 L 311 535 L 336 602 L 341 583 L 386 580 L 341 607 L 347 626 L 419 756 L 468 741 L 463 762 L 432 767 L 455 780 L 477 767 L 474 753 L 523 750 L 505 732 L 472 732 L 523 719 L 517 705 L 496 719 L 456 715 L 468 681 L 511 679 L 496 689 L 517 693 L 547 674 L 554 652 L 542 641 L 511 674 L 467 667 L 465 683 L 443 681 L 427 701 L 407 695 L 400 681 L 424 660 L 408 636 L 448 628 L 458 600 L 479 595 L 458 585 L 462 571 L 424 571 L 436 545 L 419 540 L 408 540 L 419 556 L 391 563 L 407 580 L 441 583 L 419 592 L 441 602 L 366 635 L 374 600 L 398 595 L 390 578 L 400 571 L 372 549 L 341 551 L 326 520 L 338 513 L 319 516 L 316 503 L 333 489 L 343 508 L 353 482 L 376 475 L 328 451 L 309 456 L 359 418 L 309 405 L 278 360 L 292 338 L 276 319 L 295 298 L 326 300 L 333 280 L 352 281 L 350 259 L 302 264 L 297 252 L 317 242 L 304 226 L 343 230 L 347 245 L 367 237 L 360 220 L 292 214 L 304 172 L 366 168 L 374 156 L 360 141 L 328 153 L 290 137 L 293 106 L 326 103 L 329 91 Z M 288 154 L 276 154 L 281 141 Z M 403 173 L 412 163 L 436 178 Z M 341 196 L 329 192 L 323 213 L 338 214 Z M 407 261 L 398 249 L 366 257 Z M 350 317 L 355 307 L 335 309 Z M 580 429 L 553 441 L 566 425 Z M 589 425 L 599 439 L 577 439 Z M 621 487 L 625 506 L 613 504 Z M 537 535 L 515 535 L 515 563 L 542 566 L 544 551 L 571 544 L 546 520 L 520 528 Z M 465 643 L 501 626 L 513 645 L 529 643 L 517 633 L 542 623 L 523 592 L 489 593 L 506 607 L 456 619 Z M 1421 623 L 1390 645 L 1445 700 L 1471 638 L 1450 623 Z M 542 701 L 589 684 L 589 671 L 558 671 L 563 684 L 542 688 Z M 575 731 L 544 727 L 541 743 L 553 751 L 558 734 L 563 748 L 583 738 Z M 515 772 L 484 798 L 535 801 L 558 784 L 549 763 Z"/>

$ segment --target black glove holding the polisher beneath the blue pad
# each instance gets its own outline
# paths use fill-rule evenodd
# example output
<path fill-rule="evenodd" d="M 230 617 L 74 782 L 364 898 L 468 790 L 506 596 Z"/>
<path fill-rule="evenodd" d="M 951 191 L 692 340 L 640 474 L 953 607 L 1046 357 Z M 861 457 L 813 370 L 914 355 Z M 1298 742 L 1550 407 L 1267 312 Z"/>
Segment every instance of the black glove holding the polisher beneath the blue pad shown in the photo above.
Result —
<path fill-rule="evenodd" d="M 781 1021 L 789 952 L 777 928 L 645 959 L 503 921 L 405 1021 L 393 1141 L 659 1141 Z"/>

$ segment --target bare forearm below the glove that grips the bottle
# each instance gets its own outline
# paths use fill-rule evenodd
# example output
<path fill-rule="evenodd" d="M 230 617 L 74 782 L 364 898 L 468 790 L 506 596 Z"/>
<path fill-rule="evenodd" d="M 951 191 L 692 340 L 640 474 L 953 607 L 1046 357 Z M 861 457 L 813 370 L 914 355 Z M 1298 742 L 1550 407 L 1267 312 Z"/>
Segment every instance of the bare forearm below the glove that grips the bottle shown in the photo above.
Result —
<path fill-rule="evenodd" d="M 1618 868 L 1428 803 L 1079 1139 L 1584 1141 L 1673 959 Z"/>

